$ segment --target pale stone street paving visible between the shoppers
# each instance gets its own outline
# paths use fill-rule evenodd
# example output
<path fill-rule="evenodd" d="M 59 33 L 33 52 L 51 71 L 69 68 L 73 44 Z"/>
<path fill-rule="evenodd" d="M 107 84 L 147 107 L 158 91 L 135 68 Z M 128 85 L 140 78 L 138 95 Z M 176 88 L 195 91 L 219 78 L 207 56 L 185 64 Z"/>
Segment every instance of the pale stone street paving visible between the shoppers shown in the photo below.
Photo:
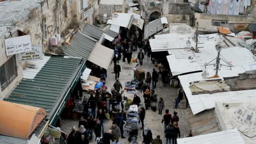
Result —
<path fill-rule="evenodd" d="M 133 52 L 133 55 L 137 55 Z M 122 62 L 120 60 L 120 66 L 121 66 L 121 72 L 119 81 L 124 86 L 126 81 L 133 80 L 133 70 L 131 69 L 133 67 L 133 64 L 128 64 L 127 62 Z M 115 83 L 115 74 L 114 74 L 114 64 L 112 63 L 109 66 L 108 74 L 107 74 L 107 83 L 106 86 L 108 88 L 108 91 L 112 88 L 113 84 Z M 150 72 L 152 73 L 153 68 L 155 68 L 157 71 L 157 67 L 154 66 L 154 64 L 151 63 L 150 58 L 145 57 L 142 67 L 138 65 L 136 68 L 142 68 L 145 69 L 145 73 Z M 169 109 L 170 113 L 173 115 L 173 100 L 176 98 L 177 95 L 177 89 L 168 87 L 158 87 L 159 83 L 157 83 L 157 88 L 155 88 L 155 91 L 157 93 L 157 99 L 162 97 L 165 100 L 165 109 Z M 152 87 L 152 85 L 150 85 Z M 133 99 L 133 94 L 127 93 L 129 99 Z M 141 98 L 141 101 L 144 102 L 143 94 L 140 93 L 139 97 Z M 163 119 L 164 110 L 162 112 L 162 115 L 158 115 L 158 110 L 156 112 L 153 112 L 151 109 L 146 110 L 146 118 L 144 120 L 144 124 L 149 127 L 149 129 L 152 131 L 153 139 L 157 135 L 160 135 L 160 139 L 162 139 L 165 142 L 164 138 L 164 130 L 163 130 L 163 124 L 161 123 L 161 120 Z M 189 134 L 189 121 L 188 121 L 188 113 L 187 109 L 175 109 L 176 112 L 178 112 L 179 116 L 179 128 L 181 131 L 181 138 L 187 137 Z M 107 131 L 112 124 L 112 121 L 106 121 L 105 122 L 105 131 Z M 62 127 L 65 131 L 68 133 L 70 132 L 72 125 L 78 125 L 77 121 L 70 121 L 70 120 L 62 120 Z M 140 125 L 141 127 L 141 125 Z M 126 139 L 120 139 L 120 141 L 123 141 L 123 143 L 128 144 L 128 133 L 125 131 L 124 136 Z M 93 138 L 93 141 L 90 141 L 91 144 L 96 144 L 96 141 L 94 141 L 95 138 Z M 143 141 L 142 136 L 142 130 L 139 130 L 139 134 L 137 136 L 137 142 L 141 144 Z M 56 143 L 57 144 L 57 143 Z"/>

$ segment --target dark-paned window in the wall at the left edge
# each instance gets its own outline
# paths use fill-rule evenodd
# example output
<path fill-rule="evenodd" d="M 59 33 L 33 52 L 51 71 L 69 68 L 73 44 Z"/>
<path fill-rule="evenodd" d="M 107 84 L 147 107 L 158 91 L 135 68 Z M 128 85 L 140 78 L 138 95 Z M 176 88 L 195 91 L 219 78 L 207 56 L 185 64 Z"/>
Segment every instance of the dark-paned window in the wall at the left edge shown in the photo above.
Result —
<path fill-rule="evenodd" d="M 15 55 L 0 67 L 0 84 L 3 91 L 16 77 L 17 67 Z"/>

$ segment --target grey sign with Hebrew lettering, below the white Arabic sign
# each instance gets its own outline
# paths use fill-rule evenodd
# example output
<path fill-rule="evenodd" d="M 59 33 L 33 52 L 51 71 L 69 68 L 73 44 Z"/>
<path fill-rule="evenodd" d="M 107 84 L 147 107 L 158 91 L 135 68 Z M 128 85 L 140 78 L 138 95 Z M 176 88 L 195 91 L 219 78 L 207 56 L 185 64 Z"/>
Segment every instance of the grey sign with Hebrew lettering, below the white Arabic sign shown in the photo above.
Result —
<path fill-rule="evenodd" d="M 19 61 L 35 61 L 43 59 L 42 46 L 32 46 L 31 51 L 19 53 Z"/>

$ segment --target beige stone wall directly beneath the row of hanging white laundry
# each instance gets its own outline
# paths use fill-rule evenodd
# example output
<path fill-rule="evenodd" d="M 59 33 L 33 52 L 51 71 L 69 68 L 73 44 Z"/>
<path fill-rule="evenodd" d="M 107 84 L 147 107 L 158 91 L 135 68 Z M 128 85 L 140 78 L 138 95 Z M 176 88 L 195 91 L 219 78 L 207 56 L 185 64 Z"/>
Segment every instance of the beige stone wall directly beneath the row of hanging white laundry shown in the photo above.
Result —
<path fill-rule="evenodd" d="M 233 24 L 233 23 L 250 24 L 254 22 L 253 16 L 237 16 L 237 15 L 209 14 L 209 13 L 195 13 L 195 19 L 196 19 L 196 22 L 197 21 L 199 22 L 199 28 L 210 27 L 212 25 L 213 20 L 226 21 L 227 24 Z"/>

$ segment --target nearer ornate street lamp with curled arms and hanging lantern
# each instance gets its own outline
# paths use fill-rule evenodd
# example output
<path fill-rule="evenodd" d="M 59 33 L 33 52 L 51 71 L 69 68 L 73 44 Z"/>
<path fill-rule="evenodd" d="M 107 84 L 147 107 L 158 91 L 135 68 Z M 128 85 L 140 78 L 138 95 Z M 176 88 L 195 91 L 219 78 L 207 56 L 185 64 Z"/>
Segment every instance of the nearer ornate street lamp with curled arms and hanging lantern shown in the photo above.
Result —
<path fill-rule="evenodd" d="M 216 67 L 214 70 L 216 70 L 216 73 L 213 77 L 209 77 L 209 78 L 217 78 L 219 77 L 218 75 L 218 71 L 221 70 L 220 67 L 222 66 L 226 66 L 226 67 L 230 67 L 230 70 L 231 68 L 233 67 L 232 64 L 228 64 L 226 61 L 224 61 L 223 59 L 221 59 L 219 56 L 220 56 L 220 53 L 221 53 L 221 46 L 219 45 L 219 48 L 218 48 L 218 56 L 215 58 L 216 59 L 216 64 L 210 64 L 212 61 L 214 61 L 215 59 L 213 59 L 212 61 L 208 62 L 208 63 L 205 63 L 205 69 L 206 69 L 206 66 L 210 66 L 210 65 L 213 65 L 213 67 Z M 225 64 L 220 64 L 220 60 L 224 61 L 227 65 Z M 204 75 L 202 74 L 202 77 L 205 79 L 205 72 L 204 71 Z M 208 74 L 209 75 L 209 74 Z"/>

